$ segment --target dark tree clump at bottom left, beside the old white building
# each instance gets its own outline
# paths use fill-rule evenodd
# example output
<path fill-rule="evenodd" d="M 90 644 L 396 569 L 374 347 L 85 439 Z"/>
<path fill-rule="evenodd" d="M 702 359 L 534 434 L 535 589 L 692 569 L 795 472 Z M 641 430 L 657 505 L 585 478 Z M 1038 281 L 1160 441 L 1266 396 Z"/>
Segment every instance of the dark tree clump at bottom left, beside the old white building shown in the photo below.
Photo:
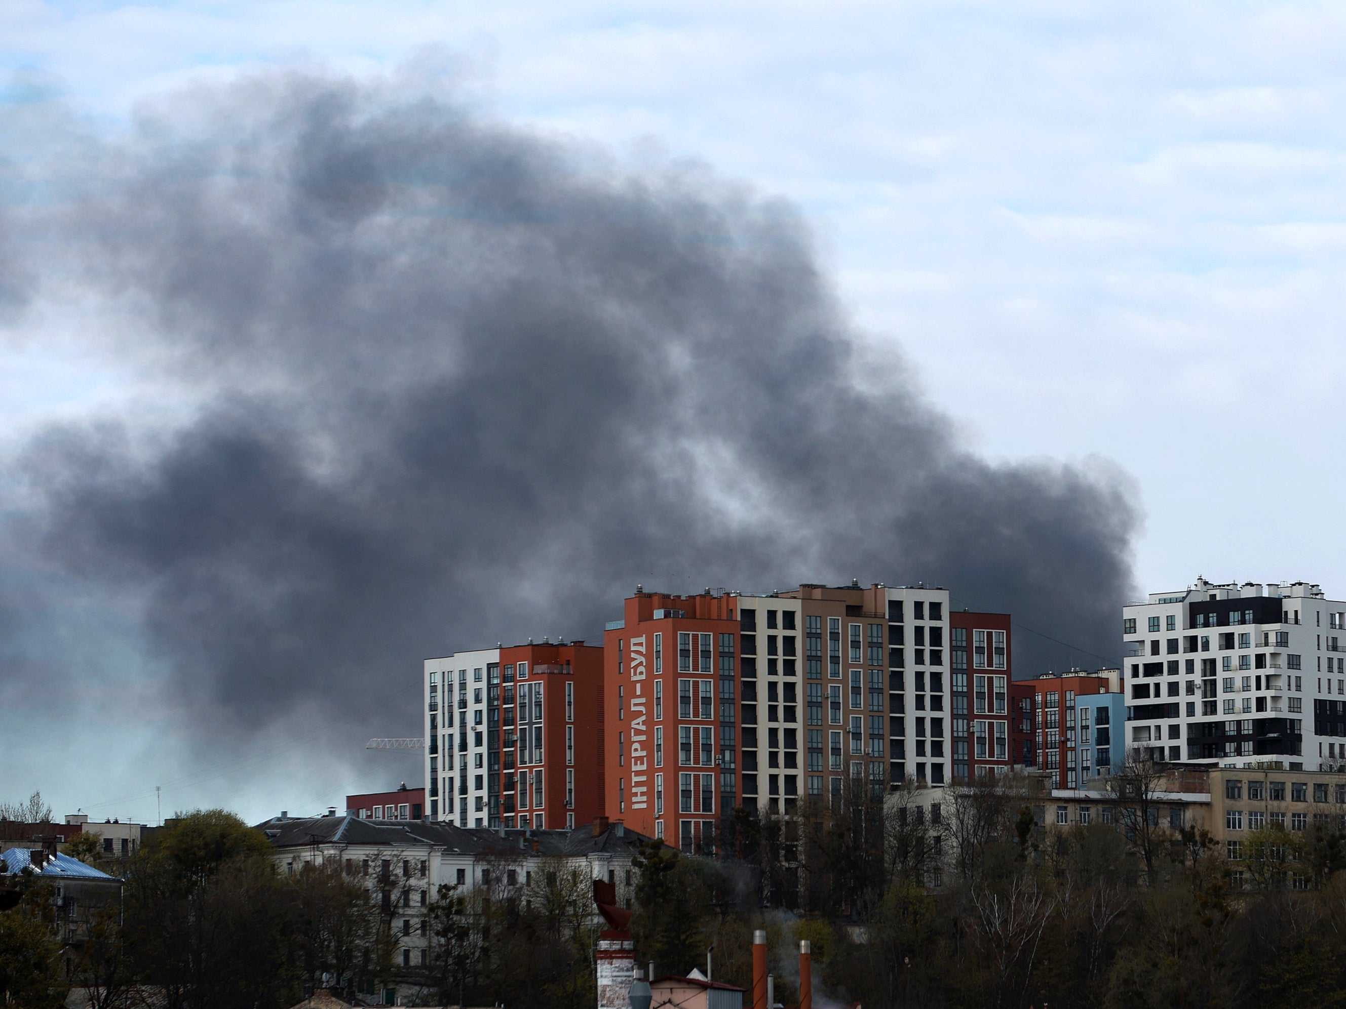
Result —
<path fill-rule="evenodd" d="M 0 1005 L 54 1009 L 71 987 L 93 1009 L 271 1009 L 324 975 L 373 989 L 392 978 L 392 924 L 341 868 L 276 870 L 267 837 L 221 811 L 194 813 L 124 861 L 77 838 L 67 853 L 124 876 L 121 897 L 83 897 L 73 942 L 50 884 L 9 879 L 0 912 Z"/>

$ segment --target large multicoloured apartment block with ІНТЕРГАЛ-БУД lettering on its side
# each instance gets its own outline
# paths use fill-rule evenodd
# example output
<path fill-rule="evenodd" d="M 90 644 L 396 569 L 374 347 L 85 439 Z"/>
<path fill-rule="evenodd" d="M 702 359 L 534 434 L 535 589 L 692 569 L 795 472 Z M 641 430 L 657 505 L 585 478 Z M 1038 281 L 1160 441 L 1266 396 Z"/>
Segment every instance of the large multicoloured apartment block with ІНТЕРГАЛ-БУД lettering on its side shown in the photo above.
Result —
<path fill-rule="evenodd" d="M 1010 620 L 952 615 L 942 588 L 638 588 L 604 651 L 607 813 L 688 850 L 738 805 L 789 815 L 848 782 L 879 798 L 1010 765 Z"/>

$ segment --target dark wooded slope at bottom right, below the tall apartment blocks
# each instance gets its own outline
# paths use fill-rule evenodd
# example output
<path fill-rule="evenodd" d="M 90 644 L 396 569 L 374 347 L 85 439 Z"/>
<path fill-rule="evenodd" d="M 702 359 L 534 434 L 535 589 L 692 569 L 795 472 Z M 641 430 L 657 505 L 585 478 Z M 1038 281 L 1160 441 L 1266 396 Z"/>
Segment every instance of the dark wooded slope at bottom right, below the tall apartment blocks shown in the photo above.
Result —
<path fill-rule="evenodd" d="M 1338 818 L 1256 831 L 1230 860 L 1206 831 L 1167 826 L 1156 782 L 1128 768 L 1112 823 L 1050 831 L 1015 779 L 935 807 L 905 790 L 790 821 L 740 813 L 732 858 L 646 853 L 639 957 L 704 970 L 713 944 L 716 979 L 747 987 L 766 927 L 786 1004 L 798 939 L 816 994 L 867 1009 L 1346 1004 Z"/>

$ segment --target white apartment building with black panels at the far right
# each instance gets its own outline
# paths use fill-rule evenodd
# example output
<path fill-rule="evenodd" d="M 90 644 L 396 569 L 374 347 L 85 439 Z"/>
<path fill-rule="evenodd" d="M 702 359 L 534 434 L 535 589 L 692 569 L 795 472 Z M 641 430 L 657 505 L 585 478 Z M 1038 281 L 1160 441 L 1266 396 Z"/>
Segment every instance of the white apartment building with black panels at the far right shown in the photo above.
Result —
<path fill-rule="evenodd" d="M 1346 761 L 1346 603 L 1318 585 L 1211 584 L 1123 607 L 1127 745 L 1288 770 Z"/>

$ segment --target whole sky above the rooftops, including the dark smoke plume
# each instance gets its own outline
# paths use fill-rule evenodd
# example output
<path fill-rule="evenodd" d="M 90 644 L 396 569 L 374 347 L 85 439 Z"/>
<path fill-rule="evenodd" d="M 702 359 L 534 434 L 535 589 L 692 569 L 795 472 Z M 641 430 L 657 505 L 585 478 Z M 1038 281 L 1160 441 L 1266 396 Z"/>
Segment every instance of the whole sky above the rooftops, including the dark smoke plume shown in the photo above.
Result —
<path fill-rule="evenodd" d="M 1346 588 L 1339 11 L 0 22 L 0 753 L 58 813 L 415 783 L 363 743 L 423 659 L 637 583 L 922 580 L 1020 677 Z"/>

